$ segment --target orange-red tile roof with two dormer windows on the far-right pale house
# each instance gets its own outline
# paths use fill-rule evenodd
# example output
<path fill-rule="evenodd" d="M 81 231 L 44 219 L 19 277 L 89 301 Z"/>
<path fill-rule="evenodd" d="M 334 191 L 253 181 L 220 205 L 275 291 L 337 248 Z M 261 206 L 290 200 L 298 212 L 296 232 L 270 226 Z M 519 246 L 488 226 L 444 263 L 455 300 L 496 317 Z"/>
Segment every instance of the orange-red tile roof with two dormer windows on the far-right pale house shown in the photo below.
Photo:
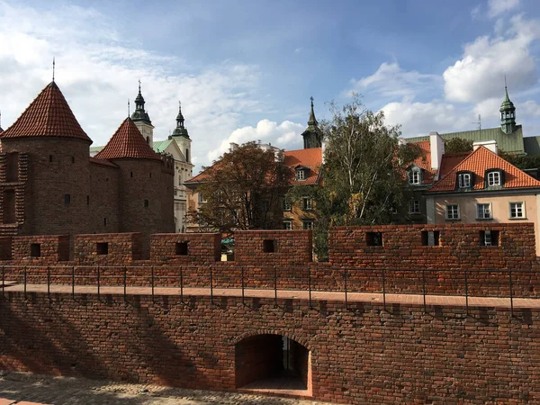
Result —
<path fill-rule="evenodd" d="M 502 157 L 491 152 L 491 150 L 480 147 L 473 153 L 455 166 L 445 178 L 439 180 L 428 191 L 430 192 L 448 192 L 455 190 L 455 177 L 457 172 L 468 171 L 473 172 L 474 190 L 482 190 L 484 188 L 484 175 L 486 170 L 499 168 L 504 171 L 504 185 L 507 188 L 526 188 L 540 187 L 540 181 L 534 179 L 530 175 L 518 169 L 518 167 L 509 164 Z"/>

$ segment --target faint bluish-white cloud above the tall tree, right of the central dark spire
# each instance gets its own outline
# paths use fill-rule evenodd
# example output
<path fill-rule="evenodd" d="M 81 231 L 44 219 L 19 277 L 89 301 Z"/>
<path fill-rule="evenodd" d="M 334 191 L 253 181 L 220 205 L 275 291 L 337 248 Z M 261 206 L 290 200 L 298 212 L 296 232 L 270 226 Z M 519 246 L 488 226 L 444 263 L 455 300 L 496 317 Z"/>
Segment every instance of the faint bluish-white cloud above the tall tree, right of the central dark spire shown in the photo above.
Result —
<path fill-rule="evenodd" d="M 433 88 L 440 82 L 440 76 L 424 75 L 416 70 L 403 70 L 396 62 L 383 63 L 373 75 L 352 80 L 352 91 L 360 94 L 374 91 L 383 97 L 414 98 L 427 88 Z"/>

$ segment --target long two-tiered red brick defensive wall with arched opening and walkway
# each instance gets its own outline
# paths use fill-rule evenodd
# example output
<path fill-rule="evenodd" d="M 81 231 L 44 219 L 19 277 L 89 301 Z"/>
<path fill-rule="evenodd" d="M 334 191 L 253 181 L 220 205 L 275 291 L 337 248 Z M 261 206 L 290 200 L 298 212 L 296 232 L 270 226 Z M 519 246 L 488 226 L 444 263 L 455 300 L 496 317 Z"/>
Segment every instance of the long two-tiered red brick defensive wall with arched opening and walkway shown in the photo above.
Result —
<path fill-rule="evenodd" d="M 234 262 L 218 261 L 216 234 L 154 235 L 150 260 L 137 233 L 77 236 L 73 259 L 61 236 L 1 239 L 0 369 L 338 403 L 540 403 L 533 224 L 338 228 L 329 263 L 312 262 L 311 231 L 235 239 Z"/>

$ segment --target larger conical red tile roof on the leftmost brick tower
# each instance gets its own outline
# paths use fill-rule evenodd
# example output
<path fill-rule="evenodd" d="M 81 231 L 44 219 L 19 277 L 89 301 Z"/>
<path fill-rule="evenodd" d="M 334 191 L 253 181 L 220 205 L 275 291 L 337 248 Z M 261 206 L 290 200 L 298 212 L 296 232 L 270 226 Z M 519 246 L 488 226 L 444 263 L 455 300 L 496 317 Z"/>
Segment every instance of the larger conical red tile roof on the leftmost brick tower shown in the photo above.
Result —
<path fill-rule="evenodd" d="M 11 127 L 0 133 L 0 139 L 23 137 L 76 138 L 92 142 L 54 82 L 41 90 Z"/>

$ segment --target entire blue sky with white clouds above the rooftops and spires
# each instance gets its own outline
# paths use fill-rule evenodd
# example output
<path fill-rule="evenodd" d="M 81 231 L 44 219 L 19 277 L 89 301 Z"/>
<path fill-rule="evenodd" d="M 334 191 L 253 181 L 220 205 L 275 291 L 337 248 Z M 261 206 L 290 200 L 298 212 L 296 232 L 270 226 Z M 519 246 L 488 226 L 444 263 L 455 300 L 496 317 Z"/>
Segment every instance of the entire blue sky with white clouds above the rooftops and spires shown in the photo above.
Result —
<path fill-rule="evenodd" d="M 525 136 L 540 135 L 536 0 L 22 1 L 0 0 L 0 111 L 9 127 L 56 83 L 103 145 L 138 81 L 156 127 L 178 101 L 193 174 L 229 142 L 302 148 L 310 97 L 360 94 L 404 138 L 500 124 L 507 77 Z"/>

